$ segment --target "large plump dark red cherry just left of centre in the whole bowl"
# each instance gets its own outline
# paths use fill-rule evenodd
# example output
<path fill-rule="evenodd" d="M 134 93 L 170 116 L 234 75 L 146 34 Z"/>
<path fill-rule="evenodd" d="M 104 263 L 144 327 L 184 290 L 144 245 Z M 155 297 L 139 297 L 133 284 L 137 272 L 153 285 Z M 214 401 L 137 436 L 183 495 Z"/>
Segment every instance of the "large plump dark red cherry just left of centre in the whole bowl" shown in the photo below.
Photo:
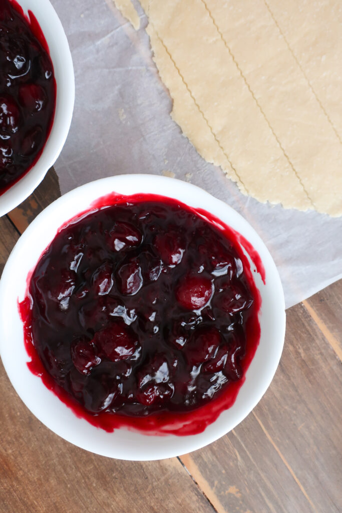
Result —
<path fill-rule="evenodd" d="M 139 356 L 139 343 L 134 332 L 121 320 L 112 321 L 108 327 L 97 331 L 93 343 L 99 355 L 112 362 L 136 360 Z"/>

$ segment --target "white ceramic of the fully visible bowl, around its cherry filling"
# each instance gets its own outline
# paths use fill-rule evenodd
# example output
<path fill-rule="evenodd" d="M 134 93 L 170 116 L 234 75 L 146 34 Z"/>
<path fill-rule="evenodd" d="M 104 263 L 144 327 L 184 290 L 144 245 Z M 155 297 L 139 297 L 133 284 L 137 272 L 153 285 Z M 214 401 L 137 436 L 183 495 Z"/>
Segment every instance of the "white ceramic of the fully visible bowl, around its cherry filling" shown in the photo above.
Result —
<path fill-rule="evenodd" d="M 234 405 L 204 432 L 191 436 L 147 436 L 120 428 L 113 433 L 93 427 L 49 391 L 27 368 L 29 360 L 17 301 L 25 296 L 28 272 L 35 267 L 57 229 L 90 204 L 111 191 L 122 194 L 155 193 L 203 208 L 241 233 L 258 252 L 266 270 L 266 285 L 257 272 L 261 294 L 261 338 L 246 381 Z M 25 255 L 25 258 L 23 258 Z M 255 267 L 251 263 L 251 269 Z M 69 442 L 89 451 L 124 460 L 156 460 L 182 455 L 222 437 L 241 422 L 267 390 L 283 349 L 285 335 L 284 294 L 275 264 L 253 228 L 235 210 L 208 192 L 186 182 L 154 175 L 122 175 L 78 187 L 47 207 L 26 229 L 13 249 L 0 281 L 0 354 L 8 376 L 27 407 L 46 426 Z M 11 405 L 8 405 L 11 408 Z"/>

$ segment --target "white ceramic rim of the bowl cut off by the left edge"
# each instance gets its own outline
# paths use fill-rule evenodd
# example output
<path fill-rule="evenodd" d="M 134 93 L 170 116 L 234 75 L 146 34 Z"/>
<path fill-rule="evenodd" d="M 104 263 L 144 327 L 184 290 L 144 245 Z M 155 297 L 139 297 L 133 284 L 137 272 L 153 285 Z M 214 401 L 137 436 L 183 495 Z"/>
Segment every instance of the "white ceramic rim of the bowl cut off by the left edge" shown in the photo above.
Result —
<path fill-rule="evenodd" d="M 22 203 L 41 183 L 55 163 L 67 138 L 75 98 L 75 80 L 67 36 L 49 0 L 17 0 L 27 14 L 31 10 L 46 38 L 56 80 L 56 110 L 50 135 L 36 164 L 0 195 L 0 216 Z"/>

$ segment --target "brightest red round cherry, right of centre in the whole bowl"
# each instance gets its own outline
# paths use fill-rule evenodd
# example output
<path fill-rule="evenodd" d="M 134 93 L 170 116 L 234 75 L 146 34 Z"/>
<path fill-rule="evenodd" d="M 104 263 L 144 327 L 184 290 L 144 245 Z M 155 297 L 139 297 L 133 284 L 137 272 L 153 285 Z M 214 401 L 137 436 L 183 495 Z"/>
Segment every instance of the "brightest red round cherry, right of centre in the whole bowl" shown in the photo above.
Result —
<path fill-rule="evenodd" d="M 211 295 L 211 281 L 200 274 L 186 276 L 176 287 L 176 299 L 187 310 L 203 308 Z"/>

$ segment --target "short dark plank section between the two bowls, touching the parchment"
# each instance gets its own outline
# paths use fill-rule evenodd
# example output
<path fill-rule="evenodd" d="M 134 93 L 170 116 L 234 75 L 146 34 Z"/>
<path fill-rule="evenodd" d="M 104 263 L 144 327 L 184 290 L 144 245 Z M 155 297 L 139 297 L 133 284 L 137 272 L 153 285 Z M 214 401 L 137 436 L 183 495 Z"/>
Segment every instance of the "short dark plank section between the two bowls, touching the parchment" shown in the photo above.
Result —
<path fill-rule="evenodd" d="M 7 215 L 16 228 L 23 233 L 39 212 L 59 196 L 61 196 L 61 191 L 59 190 L 58 177 L 52 167 L 35 191 Z"/>

